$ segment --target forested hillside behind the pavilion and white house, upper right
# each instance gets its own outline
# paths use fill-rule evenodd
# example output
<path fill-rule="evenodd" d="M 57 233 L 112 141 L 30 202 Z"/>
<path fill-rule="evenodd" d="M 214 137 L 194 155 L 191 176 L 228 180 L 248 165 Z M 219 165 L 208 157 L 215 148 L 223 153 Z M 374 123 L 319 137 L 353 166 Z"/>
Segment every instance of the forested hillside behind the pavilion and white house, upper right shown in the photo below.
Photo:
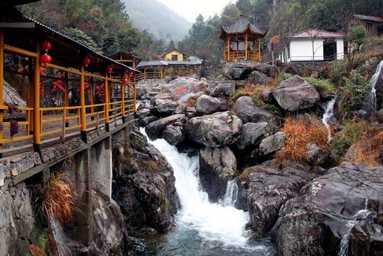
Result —
<path fill-rule="evenodd" d="M 243 14 L 257 27 L 269 27 L 263 40 L 267 47 L 274 35 L 284 38 L 289 33 L 306 29 L 341 31 L 353 13 L 382 17 L 382 0 L 238 0 L 224 8 L 220 16 L 197 17 L 189 34 L 179 44 L 181 50 L 203 59 L 221 57 L 223 43 L 218 38 L 221 26 L 228 26 Z"/>

